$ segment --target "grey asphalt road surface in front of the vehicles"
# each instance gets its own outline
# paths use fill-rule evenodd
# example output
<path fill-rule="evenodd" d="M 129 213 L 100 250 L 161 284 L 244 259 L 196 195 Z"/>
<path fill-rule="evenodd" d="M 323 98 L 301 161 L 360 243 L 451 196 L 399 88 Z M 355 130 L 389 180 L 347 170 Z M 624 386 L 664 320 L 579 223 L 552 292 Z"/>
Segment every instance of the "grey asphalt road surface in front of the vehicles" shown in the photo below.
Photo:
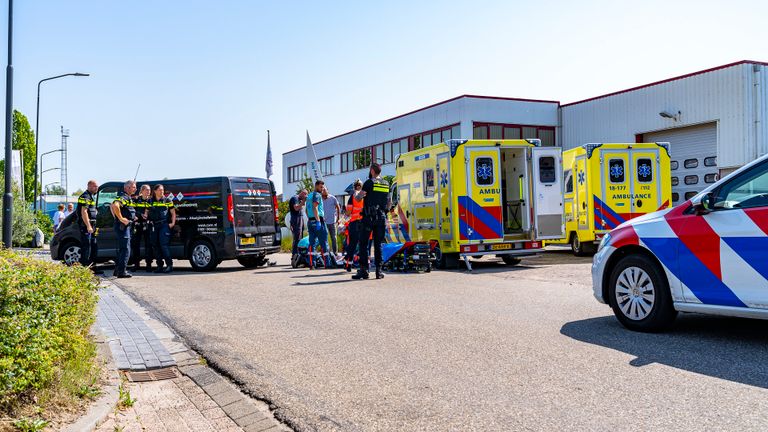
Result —
<path fill-rule="evenodd" d="M 763 430 L 768 323 L 624 330 L 567 252 L 388 274 L 278 265 L 120 285 L 297 430 Z"/>

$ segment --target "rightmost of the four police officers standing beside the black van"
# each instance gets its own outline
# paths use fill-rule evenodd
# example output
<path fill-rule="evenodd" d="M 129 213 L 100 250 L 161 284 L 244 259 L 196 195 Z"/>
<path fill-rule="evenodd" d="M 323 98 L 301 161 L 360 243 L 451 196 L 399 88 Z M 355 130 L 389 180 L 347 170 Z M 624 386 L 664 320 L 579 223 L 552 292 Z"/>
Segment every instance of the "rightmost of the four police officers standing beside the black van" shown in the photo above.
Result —
<path fill-rule="evenodd" d="M 165 188 L 161 184 L 152 188 L 149 222 L 152 224 L 152 251 L 157 260 L 155 273 L 170 273 L 173 271 L 171 229 L 176 225 L 176 209 L 173 200 L 165 196 Z"/>

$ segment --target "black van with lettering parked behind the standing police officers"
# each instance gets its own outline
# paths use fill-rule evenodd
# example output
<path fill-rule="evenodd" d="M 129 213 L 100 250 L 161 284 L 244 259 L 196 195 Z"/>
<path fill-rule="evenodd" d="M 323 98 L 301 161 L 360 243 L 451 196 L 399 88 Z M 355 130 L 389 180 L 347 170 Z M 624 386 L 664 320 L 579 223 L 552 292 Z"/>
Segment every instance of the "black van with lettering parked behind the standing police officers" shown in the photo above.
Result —
<path fill-rule="evenodd" d="M 236 259 L 247 268 L 266 264 L 280 250 L 277 195 L 272 181 L 256 177 L 207 177 L 136 182 L 162 184 L 176 207 L 171 230 L 171 257 L 189 259 L 198 271 L 211 271 L 223 260 Z M 123 182 L 99 187 L 96 198 L 97 260 L 117 257 L 110 204 Z M 76 212 L 75 212 L 76 213 Z M 51 257 L 71 265 L 80 259 L 78 215 L 69 215 L 51 240 Z M 142 256 L 144 249 L 142 245 Z"/>

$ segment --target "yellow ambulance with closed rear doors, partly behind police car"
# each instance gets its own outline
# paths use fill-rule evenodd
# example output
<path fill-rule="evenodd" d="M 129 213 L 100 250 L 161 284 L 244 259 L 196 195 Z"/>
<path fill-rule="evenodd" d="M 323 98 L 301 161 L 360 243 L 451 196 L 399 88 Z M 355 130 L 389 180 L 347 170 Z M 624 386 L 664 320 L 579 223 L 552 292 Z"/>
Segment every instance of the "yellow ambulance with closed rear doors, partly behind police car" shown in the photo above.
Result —
<path fill-rule="evenodd" d="M 622 222 L 669 207 L 669 143 L 585 144 L 563 152 L 565 236 L 574 255 L 592 254 Z"/>

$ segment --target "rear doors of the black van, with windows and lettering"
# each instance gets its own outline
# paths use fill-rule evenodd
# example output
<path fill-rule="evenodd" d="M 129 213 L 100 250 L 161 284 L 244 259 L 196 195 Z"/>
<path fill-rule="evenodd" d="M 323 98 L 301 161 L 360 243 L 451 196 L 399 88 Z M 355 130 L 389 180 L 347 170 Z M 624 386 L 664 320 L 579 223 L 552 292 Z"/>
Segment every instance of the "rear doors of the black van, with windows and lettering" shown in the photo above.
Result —
<path fill-rule="evenodd" d="M 275 209 L 272 188 L 262 180 L 230 180 L 231 222 L 238 249 L 272 246 L 275 242 Z"/>

